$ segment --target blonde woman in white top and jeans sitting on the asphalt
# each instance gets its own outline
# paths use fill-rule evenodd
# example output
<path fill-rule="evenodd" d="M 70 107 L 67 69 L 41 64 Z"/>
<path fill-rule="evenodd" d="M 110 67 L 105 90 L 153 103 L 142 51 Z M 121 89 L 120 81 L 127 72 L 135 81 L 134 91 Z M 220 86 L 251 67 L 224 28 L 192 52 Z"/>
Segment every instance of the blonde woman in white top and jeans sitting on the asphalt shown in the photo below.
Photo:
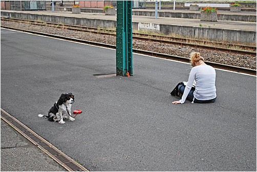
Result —
<path fill-rule="evenodd" d="M 210 103 L 216 101 L 216 71 L 213 67 L 204 63 L 204 58 L 200 53 L 190 54 L 192 69 L 188 82 L 185 85 L 178 85 L 179 93 L 183 94 L 181 100 L 172 102 L 173 104 L 183 104 L 185 100 L 192 103 Z M 192 87 L 195 82 L 195 88 Z"/>

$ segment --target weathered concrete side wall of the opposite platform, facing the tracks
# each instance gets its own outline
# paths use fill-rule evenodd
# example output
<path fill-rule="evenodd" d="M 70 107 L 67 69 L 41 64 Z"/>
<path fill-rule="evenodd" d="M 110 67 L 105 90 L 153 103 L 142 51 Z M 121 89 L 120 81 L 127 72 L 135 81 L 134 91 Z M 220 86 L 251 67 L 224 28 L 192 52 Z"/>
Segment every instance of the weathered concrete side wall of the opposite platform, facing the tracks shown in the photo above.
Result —
<path fill-rule="evenodd" d="M 116 28 L 116 20 L 104 20 L 93 18 L 79 18 L 66 16 L 53 16 L 42 14 L 28 14 L 1 11 L 1 16 L 23 18 L 29 20 L 50 21 L 65 24 L 77 24 L 95 28 Z M 205 27 L 189 27 L 181 25 L 168 25 L 157 23 L 133 22 L 133 30 L 151 30 L 165 34 L 176 34 L 192 38 L 204 38 L 215 41 L 235 41 L 241 43 L 256 43 L 256 31 L 242 31 L 234 29 L 216 29 Z"/>

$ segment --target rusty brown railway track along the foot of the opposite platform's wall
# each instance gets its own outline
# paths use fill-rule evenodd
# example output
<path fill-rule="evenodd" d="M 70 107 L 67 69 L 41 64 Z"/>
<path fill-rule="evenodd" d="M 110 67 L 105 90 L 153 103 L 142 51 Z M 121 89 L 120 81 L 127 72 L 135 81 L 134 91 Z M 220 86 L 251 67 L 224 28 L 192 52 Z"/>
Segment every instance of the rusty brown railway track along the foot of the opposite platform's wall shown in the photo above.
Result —
<path fill-rule="evenodd" d="M 23 23 L 36 24 L 39 26 L 48 26 L 48 27 L 55 27 L 55 28 L 62 27 L 68 30 L 92 32 L 92 33 L 101 34 L 101 35 L 116 36 L 116 31 L 110 30 L 110 29 L 83 27 L 83 26 L 75 26 L 70 24 L 60 24 L 60 23 L 6 18 L 6 17 L 1 17 L 1 20 L 12 21 L 12 22 L 23 22 Z M 177 38 L 177 37 L 161 36 L 161 35 L 153 35 L 153 34 L 142 34 L 142 33 L 133 33 L 133 39 L 167 43 L 167 44 L 192 46 L 196 48 L 204 48 L 207 50 L 216 50 L 216 51 L 222 51 L 227 53 L 256 56 L 256 47 L 240 45 L 240 44 L 221 43 L 221 42 L 213 42 L 213 41 L 206 41 L 206 40 Z M 212 46 L 212 45 L 215 45 L 215 46 Z M 230 48 L 224 48 L 224 47 L 230 47 Z M 231 48 L 231 47 L 234 47 L 234 48 Z"/>

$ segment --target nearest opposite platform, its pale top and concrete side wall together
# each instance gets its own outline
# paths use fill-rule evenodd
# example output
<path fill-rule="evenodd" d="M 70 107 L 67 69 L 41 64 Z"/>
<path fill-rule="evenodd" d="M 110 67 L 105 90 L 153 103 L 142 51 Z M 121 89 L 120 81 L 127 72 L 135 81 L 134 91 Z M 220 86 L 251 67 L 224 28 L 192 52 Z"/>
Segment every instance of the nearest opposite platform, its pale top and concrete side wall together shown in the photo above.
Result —
<path fill-rule="evenodd" d="M 51 12 L 51 11 L 1 11 L 2 16 L 23 19 L 51 21 L 65 24 L 78 24 L 96 28 L 116 28 L 117 16 L 100 13 Z M 174 34 L 197 39 L 216 41 L 234 41 L 242 43 L 256 42 L 256 22 L 200 21 L 200 19 L 169 18 L 152 16 L 133 16 L 133 30 L 149 30 L 165 34 Z M 242 36 L 243 35 L 243 36 Z"/>

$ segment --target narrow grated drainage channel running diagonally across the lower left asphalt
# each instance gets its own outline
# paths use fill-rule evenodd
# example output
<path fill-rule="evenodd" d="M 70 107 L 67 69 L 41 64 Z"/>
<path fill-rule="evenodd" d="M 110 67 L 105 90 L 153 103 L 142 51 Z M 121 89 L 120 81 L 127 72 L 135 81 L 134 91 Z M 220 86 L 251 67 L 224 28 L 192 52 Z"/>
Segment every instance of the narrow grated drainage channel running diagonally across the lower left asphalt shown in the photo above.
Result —
<path fill-rule="evenodd" d="M 66 168 L 68 171 L 89 171 L 82 165 L 75 162 L 73 159 L 63 154 L 60 150 L 55 148 L 51 143 L 49 143 L 44 138 L 37 135 L 27 126 L 22 124 L 16 118 L 11 116 L 9 113 L 1 108 L 1 119 L 6 121 L 10 126 L 12 126 L 16 131 L 22 134 L 25 138 L 30 140 L 33 144 L 37 145 L 39 149 L 48 154 L 52 159 L 54 159 L 61 166 Z"/>

